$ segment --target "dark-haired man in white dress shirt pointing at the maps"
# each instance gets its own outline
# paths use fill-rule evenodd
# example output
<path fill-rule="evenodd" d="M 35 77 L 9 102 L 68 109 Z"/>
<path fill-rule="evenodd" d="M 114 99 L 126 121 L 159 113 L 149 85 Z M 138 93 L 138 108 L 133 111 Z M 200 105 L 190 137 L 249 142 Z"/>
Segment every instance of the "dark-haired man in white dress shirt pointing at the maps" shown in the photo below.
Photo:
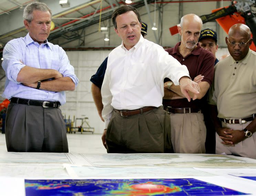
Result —
<path fill-rule="evenodd" d="M 199 85 L 186 66 L 141 36 L 136 8 L 117 8 L 112 21 L 122 44 L 108 56 L 102 85 L 103 145 L 108 153 L 172 152 L 170 120 L 162 108 L 163 79 L 180 83 L 189 101 L 188 91 L 196 99 Z"/>

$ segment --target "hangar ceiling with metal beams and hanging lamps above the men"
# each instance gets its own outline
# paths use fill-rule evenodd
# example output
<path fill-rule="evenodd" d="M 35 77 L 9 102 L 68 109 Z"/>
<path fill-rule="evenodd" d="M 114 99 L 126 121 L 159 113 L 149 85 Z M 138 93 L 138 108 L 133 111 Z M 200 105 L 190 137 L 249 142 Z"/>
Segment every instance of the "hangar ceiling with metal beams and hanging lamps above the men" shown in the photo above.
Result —
<path fill-rule="evenodd" d="M 23 25 L 23 10 L 25 6 L 35 0 L 0 0 L 0 58 L 2 57 L 2 51 L 4 45 L 11 39 L 24 37 L 27 34 L 27 30 Z M 38 0 L 37 0 L 38 1 Z M 55 24 L 54 29 L 51 31 L 48 40 L 53 44 L 58 44 L 64 48 L 77 49 L 79 47 L 87 47 L 87 49 L 111 49 L 115 45 L 104 45 L 102 47 L 88 47 L 88 40 L 94 38 L 101 40 L 102 37 L 98 36 L 97 25 L 101 22 L 100 26 L 108 27 L 108 35 L 113 31 L 113 25 L 110 21 L 113 11 L 126 4 L 125 0 L 68 0 L 70 3 L 69 7 L 62 7 L 59 4 L 60 0 L 39 0 L 39 2 L 44 2 L 52 10 L 52 21 Z M 193 2 L 215 2 L 216 8 L 221 4 L 220 1 L 230 0 L 132 0 L 132 6 L 137 9 L 142 9 L 144 18 L 147 18 L 147 23 L 149 28 L 153 26 L 154 15 L 154 5 L 157 9 L 158 26 L 160 27 L 158 31 L 151 31 L 151 40 L 161 45 L 162 36 L 162 13 L 163 7 L 169 3 L 179 4 L 177 12 L 177 17 L 180 19 L 182 17 L 182 4 L 193 3 Z M 156 4 L 154 4 L 156 2 Z M 229 3 L 227 2 L 227 3 Z M 215 7 L 213 7 L 215 8 Z M 139 10 L 140 11 L 140 10 Z M 140 12 L 141 13 L 141 12 Z M 141 13 L 142 14 L 142 13 Z M 170 20 L 171 21 L 171 20 Z M 175 21 L 174 21 L 175 22 Z M 177 20 L 178 22 L 178 20 Z M 99 26 L 99 25 L 98 25 Z M 90 28 L 88 28 L 90 27 Z M 167 28 L 168 29 L 168 28 Z M 98 33 L 98 34 L 97 34 Z M 87 43 L 85 41 L 87 40 Z M 72 46 L 69 46 L 70 43 Z M 92 45 L 92 44 L 91 44 Z"/>

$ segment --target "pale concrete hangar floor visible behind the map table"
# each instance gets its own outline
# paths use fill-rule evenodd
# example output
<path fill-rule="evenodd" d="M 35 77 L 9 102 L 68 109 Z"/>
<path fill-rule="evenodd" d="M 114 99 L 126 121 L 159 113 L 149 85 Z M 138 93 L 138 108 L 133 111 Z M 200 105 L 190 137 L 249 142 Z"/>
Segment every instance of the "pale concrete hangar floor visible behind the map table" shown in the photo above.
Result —
<path fill-rule="evenodd" d="M 68 149 L 73 153 L 107 153 L 100 134 L 67 134 Z M 7 152 L 5 134 L 0 133 L 0 152 Z"/>

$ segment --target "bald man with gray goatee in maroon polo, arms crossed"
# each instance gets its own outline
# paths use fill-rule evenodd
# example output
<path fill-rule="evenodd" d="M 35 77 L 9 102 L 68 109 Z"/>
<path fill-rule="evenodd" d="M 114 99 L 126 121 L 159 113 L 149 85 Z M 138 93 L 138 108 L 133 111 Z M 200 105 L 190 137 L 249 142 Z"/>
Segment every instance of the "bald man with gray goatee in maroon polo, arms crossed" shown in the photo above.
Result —
<path fill-rule="evenodd" d="M 163 106 L 170 114 L 171 141 L 175 153 L 205 153 L 206 128 L 202 105 L 213 81 L 215 57 L 198 44 L 201 28 L 199 16 L 183 16 L 178 27 L 181 42 L 166 50 L 188 68 L 191 79 L 198 82 L 201 89 L 198 100 L 188 102 L 179 85 L 165 80 Z M 197 79 L 196 76 L 201 77 Z"/>

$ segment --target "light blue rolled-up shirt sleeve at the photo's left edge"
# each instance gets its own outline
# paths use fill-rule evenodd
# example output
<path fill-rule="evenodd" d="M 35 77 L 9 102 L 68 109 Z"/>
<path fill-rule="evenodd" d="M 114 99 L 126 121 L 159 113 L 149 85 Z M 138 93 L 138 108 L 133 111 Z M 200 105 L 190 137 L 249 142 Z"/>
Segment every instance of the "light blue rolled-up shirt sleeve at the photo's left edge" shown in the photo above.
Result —
<path fill-rule="evenodd" d="M 20 46 L 15 46 L 15 44 L 7 43 L 3 49 L 3 62 L 2 67 L 6 72 L 6 77 L 8 80 L 19 84 L 17 81 L 17 76 L 20 70 L 25 66 L 22 63 L 22 54 L 19 51 Z"/>

